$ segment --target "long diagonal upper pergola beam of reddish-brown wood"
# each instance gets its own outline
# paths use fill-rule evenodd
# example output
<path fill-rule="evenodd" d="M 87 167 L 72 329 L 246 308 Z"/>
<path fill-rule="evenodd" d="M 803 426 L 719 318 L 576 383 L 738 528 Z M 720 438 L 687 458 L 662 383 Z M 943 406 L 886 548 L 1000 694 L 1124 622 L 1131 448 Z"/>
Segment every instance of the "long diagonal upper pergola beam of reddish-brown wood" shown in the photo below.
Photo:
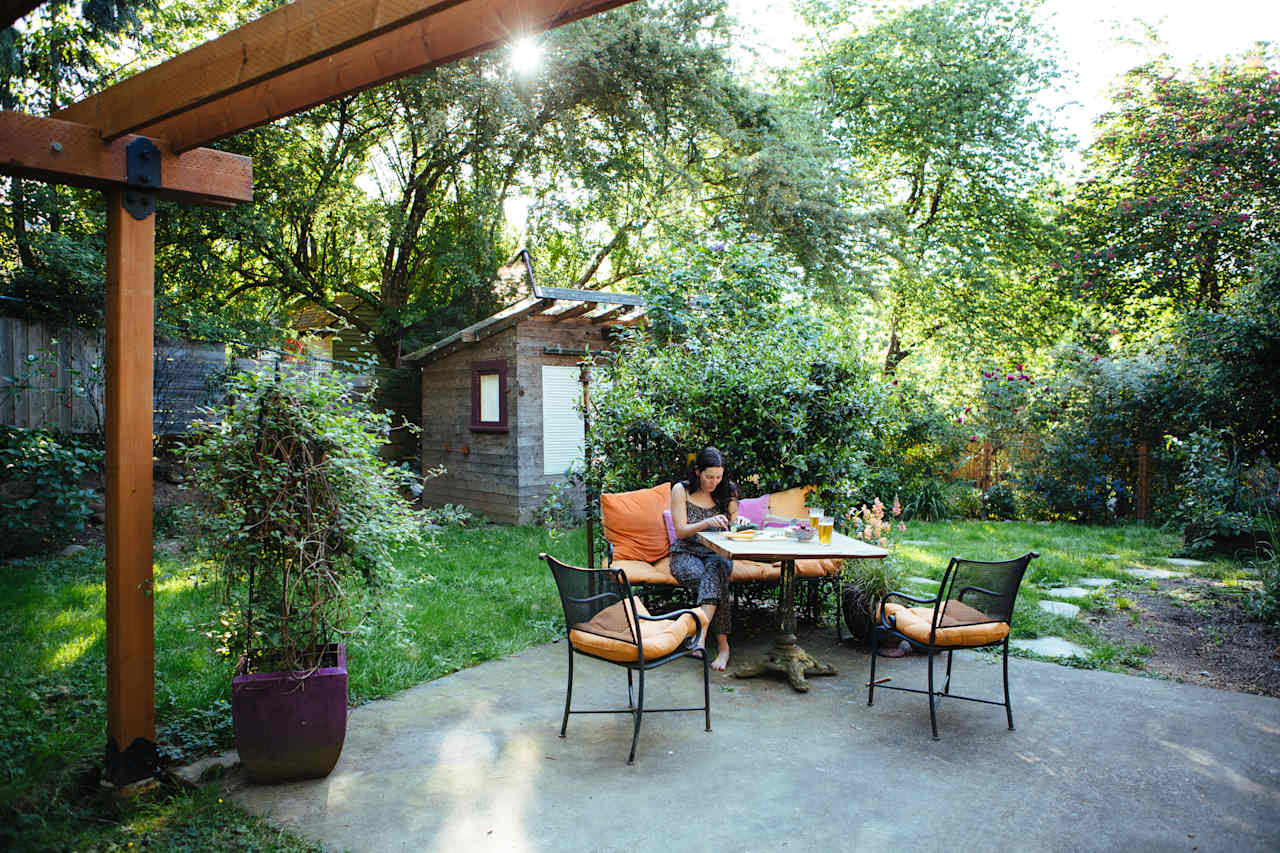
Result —
<path fill-rule="evenodd" d="M 186 151 L 626 1 L 297 0 L 56 115 Z"/>

